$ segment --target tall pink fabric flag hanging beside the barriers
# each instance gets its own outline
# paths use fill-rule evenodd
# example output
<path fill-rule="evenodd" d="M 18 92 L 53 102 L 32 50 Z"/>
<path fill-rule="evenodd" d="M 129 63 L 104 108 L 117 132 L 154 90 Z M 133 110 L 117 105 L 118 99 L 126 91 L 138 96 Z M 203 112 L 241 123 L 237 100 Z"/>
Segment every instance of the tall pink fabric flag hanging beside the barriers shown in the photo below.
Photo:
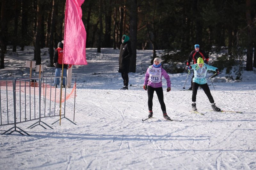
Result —
<path fill-rule="evenodd" d="M 65 30 L 63 63 L 86 65 L 86 31 L 82 21 L 81 5 L 84 0 L 67 0 L 65 12 Z"/>

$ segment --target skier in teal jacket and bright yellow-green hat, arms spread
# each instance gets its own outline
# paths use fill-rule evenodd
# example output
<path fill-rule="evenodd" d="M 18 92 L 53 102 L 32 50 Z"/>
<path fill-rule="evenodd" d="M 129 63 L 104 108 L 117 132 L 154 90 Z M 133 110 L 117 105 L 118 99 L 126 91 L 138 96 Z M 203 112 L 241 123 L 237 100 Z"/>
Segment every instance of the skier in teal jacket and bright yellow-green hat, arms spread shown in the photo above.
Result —
<path fill-rule="evenodd" d="M 207 85 L 207 79 L 206 79 L 206 73 L 207 70 L 216 71 L 217 74 L 220 73 L 219 69 L 217 67 L 213 67 L 211 65 L 207 65 L 204 63 L 203 58 L 199 57 L 197 59 L 197 63 L 185 67 L 186 70 L 194 70 L 195 77 L 193 78 L 193 84 L 192 84 L 192 109 L 193 111 L 197 111 L 196 109 L 196 94 L 198 87 L 201 86 L 204 90 L 204 93 L 208 97 L 209 101 L 212 104 L 212 109 L 216 112 L 220 112 L 220 108 L 218 108 L 213 100 L 212 94 L 210 92 L 210 88 Z"/>

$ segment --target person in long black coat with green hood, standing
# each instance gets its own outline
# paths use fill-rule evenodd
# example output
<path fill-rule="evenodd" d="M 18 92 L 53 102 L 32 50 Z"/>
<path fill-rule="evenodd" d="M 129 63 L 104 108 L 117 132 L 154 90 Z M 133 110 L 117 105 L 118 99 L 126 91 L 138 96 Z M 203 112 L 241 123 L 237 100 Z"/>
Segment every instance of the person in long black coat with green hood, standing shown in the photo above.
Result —
<path fill-rule="evenodd" d="M 128 90 L 128 82 L 129 82 L 129 66 L 130 66 L 130 58 L 132 56 L 132 47 L 131 41 L 129 41 L 129 37 L 127 35 L 123 35 L 122 37 L 122 44 L 120 46 L 120 53 L 119 53 L 119 70 L 118 72 L 121 73 L 122 78 L 124 80 L 124 87 L 120 90 Z"/>

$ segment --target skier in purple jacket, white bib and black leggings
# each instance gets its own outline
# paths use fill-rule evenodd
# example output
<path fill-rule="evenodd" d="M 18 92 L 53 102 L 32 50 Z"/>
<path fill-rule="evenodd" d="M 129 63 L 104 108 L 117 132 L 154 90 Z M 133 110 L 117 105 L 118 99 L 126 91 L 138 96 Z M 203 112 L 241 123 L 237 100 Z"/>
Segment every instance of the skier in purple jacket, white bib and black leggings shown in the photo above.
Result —
<path fill-rule="evenodd" d="M 158 97 L 159 103 L 161 105 L 161 109 L 163 111 L 164 119 L 171 120 L 171 118 L 166 113 L 166 107 L 164 104 L 164 93 L 163 93 L 163 85 L 162 85 L 162 76 L 166 79 L 167 83 L 167 92 L 171 91 L 171 81 L 167 72 L 161 66 L 161 59 L 155 58 L 154 64 L 148 67 L 148 70 L 145 74 L 145 80 L 143 89 L 148 90 L 148 118 L 153 116 L 153 95 L 154 91 L 156 91 L 156 95 Z"/>

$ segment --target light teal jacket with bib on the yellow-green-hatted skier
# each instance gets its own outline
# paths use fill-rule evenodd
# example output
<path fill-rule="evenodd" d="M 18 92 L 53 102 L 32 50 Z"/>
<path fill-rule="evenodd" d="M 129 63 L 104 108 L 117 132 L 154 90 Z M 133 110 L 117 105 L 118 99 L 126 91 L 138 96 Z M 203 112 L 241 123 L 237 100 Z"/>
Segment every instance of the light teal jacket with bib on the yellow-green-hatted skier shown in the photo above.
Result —
<path fill-rule="evenodd" d="M 207 83 L 207 79 L 206 79 L 206 73 L 207 70 L 212 70 L 215 71 L 216 69 L 218 69 L 217 67 L 213 67 L 211 65 L 207 65 L 204 63 L 204 66 L 202 68 L 200 68 L 198 66 L 198 64 L 193 64 L 191 65 L 191 70 L 194 70 L 194 78 L 193 78 L 193 82 L 199 84 L 199 85 L 203 85 L 205 83 Z"/>

